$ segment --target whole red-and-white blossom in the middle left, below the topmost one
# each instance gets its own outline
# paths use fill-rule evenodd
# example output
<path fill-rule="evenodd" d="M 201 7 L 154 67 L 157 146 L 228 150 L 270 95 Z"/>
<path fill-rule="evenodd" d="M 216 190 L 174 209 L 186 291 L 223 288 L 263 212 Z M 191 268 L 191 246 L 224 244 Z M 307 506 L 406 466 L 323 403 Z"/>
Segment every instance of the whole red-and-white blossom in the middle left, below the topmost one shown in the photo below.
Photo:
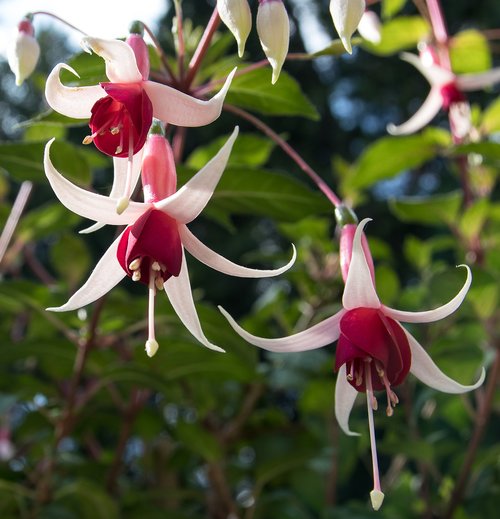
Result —
<path fill-rule="evenodd" d="M 149 292 L 149 333 L 146 352 L 151 357 L 158 343 L 154 329 L 154 301 L 164 289 L 179 319 L 207 348 L 223 351 L 204 335 L 193 302 L 184 249 L 219 272 L 238 277 L 260 278 L 281 274 L 295 261 L 275 270 L 257 270 L 237 265 L 209 249 L 187 228 L 210 200 L 224 171 L 233 143 L 231 137 L 217 155 L 183 187 L 176 190 L 176 172 L 168 141 L 158 134 L 148 138 L 142 158 L 144 203 L 131 202 L 123 214 L 114 211 L 114 201 L 69 182 L 52 165 L 51 140 L 44 155 L 45 174 L 59 200 L 71 211 L 108 225 L 127 225 L 104 253 L 86 283 L 54 312 L 81 308 L 102 297 L 125 276 L 144 283 Z"/>

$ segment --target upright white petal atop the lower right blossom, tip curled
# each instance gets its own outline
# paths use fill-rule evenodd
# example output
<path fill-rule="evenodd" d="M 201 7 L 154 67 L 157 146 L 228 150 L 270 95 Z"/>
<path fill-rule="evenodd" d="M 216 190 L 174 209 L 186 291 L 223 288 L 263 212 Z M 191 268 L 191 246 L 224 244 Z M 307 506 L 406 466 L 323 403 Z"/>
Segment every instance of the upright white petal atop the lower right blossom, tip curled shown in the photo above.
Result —
<path fill-rule="evenodd" d="M 353 308 L 379 308 L 380 301 L 373 284 L 370 269 L 366 262 L 365 253 L 361 246 L 361 236 L 365 225 L 370 218 L 365 218 L 359 222 L 354 234 L 352 244 L 351 263 L 345 282 L 342 304 L 346 310 Z"/>

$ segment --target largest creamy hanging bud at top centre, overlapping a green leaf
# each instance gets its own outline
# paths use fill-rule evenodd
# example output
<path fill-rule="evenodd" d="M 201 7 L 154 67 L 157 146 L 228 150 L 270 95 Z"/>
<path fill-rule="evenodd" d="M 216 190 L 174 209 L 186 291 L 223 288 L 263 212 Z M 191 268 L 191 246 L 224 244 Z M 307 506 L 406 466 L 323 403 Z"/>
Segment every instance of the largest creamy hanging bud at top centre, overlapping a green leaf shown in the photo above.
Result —
<path fill-rule="evenodd" d="M 257 10 L 257 33 L 273 68 L 271 82 L 274 85 L 288 54 L 290 40 L 290 22 L 281 0 L 260 0 Z"/>

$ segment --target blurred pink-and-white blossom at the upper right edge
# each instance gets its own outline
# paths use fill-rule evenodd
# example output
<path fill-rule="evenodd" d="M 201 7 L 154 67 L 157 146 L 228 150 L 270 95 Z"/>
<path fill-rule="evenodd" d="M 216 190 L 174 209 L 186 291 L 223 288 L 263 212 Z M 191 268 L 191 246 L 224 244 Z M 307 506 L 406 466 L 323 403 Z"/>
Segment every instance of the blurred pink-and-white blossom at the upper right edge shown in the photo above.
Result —
<path fill-rule="evenodd" d="M 464 92 L 480 90 L 500 82 L 500 68 L 479 74 L 454 74 L 442 66 L 437 53 L 430 45 L 420 46 L 418 56 L 404 52 L 401 59 L 413 65 L 431 85 L 429 95 L 418 111 L 406 122 L 389 124 L 392 135 L 407 135 L 422 129 L 434 119 L 441 109 L 449 110 L 454 135 L 462 138 L 470 130 L 470 106 Z"/>

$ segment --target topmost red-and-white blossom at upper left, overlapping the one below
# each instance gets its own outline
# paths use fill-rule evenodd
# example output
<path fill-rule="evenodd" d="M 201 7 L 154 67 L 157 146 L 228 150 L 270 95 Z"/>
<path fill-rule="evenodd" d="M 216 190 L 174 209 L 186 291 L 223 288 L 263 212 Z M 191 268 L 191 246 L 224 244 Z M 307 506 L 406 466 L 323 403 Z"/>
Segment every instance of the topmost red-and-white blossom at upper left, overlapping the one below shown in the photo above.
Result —
<path fill-rule="evenodd" d="M 84 144 L 93 142 L 103 153 L 126 161 L 125 191 L 117 200 L 116 208 L 121 213 L 128 207 L 133 188 L 134 155 L 144 146 L 153 117 L 177 126 L 211 123 L 221 113 L 235 71 L 228 76 L 222 89 L 205 101 L 149 81 L 145 44 L 142 42 L 141 45 L 137 38 L 129 37 L 127 43 L 85 37 L 82 46 L 105 60 L 109 81 L 92 86 L 65 86 L 59 77 L 62 69 L 79 76 L 70 66 L 59 63 L 47 78 L 45 96 L 56 112 L 90 119 L 92 133 L 85 137 Z M 137 173 L 137 169 L 135 171 Z"/>

